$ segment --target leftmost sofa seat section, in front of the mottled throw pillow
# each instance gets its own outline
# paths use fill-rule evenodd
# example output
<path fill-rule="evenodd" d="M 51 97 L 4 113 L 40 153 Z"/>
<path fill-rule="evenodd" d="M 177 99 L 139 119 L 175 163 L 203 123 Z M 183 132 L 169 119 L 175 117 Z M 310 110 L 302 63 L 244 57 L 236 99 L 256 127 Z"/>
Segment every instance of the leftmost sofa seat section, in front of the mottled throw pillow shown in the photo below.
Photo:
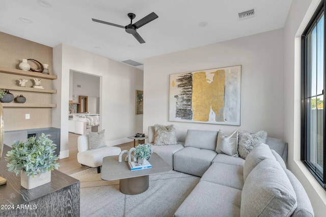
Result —
<path fill-rule="evenodd" d="M 150 144 L 150 143 L 148 143 Z M 183 148 L 184 143 L 179 142 L 177 145 L 153 145 L 151 144 L 152 152 L 158 154 L 165 162 L 173 167 L 173 154 Z"/>

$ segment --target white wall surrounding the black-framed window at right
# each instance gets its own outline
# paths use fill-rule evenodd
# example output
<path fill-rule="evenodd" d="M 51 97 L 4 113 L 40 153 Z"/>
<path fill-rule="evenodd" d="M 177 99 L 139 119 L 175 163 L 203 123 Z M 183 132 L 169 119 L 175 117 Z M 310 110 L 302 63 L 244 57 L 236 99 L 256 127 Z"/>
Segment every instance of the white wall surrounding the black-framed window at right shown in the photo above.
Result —
<path fill-rule="evenodd" d="M 301 39 L 320 0 L 292 1 L 284 27 L 284 135 L 289 144 L 288 166 L 301 181 L 312 202 L 315 216 L 324 216 L 326 192 L 300 161 Z"/>

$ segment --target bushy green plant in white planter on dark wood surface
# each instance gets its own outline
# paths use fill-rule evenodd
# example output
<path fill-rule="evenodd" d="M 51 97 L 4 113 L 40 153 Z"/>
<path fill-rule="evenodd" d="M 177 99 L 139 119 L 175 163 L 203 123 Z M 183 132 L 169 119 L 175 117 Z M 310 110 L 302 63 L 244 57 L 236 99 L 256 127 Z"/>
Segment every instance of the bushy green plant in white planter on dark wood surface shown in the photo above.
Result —
<path fill-rule="evenodd" d="M 9 172 L 20 173 L 21 186 L 33 189 L 51 181 L 51 170 L 59 167 L 58 156 L 53 154 L 56 144 L 42 135 L 39 139 L 30 137 L 26 142 L 16 140 L 12 150 L 6 154 Z"/>

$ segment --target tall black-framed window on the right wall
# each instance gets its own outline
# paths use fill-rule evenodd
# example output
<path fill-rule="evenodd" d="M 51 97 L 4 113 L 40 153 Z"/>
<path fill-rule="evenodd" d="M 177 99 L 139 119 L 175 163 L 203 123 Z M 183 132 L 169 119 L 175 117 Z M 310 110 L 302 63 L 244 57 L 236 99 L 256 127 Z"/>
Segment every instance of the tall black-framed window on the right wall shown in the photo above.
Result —
<path fill-rule="evenodd" d="M 326 189 L 325 37 L 322 1 L 302 35 L 301 160 Z"/>

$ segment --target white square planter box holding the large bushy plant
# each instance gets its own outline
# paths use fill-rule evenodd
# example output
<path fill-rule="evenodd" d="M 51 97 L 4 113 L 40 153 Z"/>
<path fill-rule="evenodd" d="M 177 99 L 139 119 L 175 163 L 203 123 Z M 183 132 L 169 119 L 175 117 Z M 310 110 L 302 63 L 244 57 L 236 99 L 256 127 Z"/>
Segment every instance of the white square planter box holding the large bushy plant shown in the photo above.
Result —
<path fill-rule="evenodd" d="M 42 184 L 46 184 L 51 181 L 51 171 L 46 173 L 37 173 L 37 175 L 27 176 L 26 172 L 21 170 L 20 171 L 20 184 L 25 189 L 34 189 L 39 187 Z"/>

